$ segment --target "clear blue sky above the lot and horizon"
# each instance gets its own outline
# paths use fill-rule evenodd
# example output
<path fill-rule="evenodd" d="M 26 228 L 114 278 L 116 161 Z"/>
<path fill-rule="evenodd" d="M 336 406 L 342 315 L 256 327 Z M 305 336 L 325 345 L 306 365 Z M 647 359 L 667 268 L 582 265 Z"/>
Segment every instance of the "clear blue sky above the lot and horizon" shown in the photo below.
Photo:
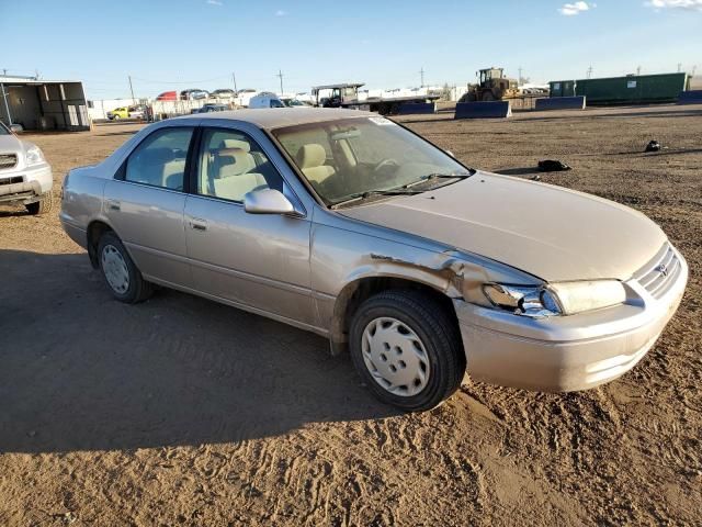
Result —
<path fill-rule="evenodd" d="M 346 5 L 346 7 L 344 7 Z M 92 99 L 169 89 L 285 91 L 463 85 L 482 67 L 532 81 L 702 75 L 702 0 L 0 0 L 0 70 L 82 79 Z"/>

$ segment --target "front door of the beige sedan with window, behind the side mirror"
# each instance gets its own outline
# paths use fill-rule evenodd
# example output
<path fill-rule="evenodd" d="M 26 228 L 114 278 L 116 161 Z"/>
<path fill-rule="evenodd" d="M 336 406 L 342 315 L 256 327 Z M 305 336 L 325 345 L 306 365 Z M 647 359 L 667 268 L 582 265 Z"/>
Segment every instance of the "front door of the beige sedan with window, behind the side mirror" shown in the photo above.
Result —
<path fill-rule="evenodd" d="M 247 192 L 283 189 L 265 153 L 241 132 L 204 128 L 194 175 L 195 193 L 185 202 L 194 288 L 313 324 L 309 220 L 244 210 Z"/>

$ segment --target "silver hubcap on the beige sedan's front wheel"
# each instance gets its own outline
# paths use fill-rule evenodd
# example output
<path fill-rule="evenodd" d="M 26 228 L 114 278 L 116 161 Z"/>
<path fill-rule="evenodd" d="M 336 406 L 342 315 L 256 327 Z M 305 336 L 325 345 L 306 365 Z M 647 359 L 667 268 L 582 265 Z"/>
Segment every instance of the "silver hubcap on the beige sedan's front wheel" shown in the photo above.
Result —
<path fill-rule="evenodd" d="M 362 352 L 369 372 L 388 392 L 409 397 L 427 386 L 430 367 L 424 345 L 397 318 L 371 321 L 363 330 Z"/>

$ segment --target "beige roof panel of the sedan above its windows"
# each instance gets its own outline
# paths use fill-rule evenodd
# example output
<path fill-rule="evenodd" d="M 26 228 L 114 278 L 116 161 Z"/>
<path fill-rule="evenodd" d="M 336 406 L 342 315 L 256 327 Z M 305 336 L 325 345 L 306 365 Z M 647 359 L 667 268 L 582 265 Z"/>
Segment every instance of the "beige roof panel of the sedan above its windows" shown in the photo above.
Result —
<path fill-rule="evenodd" d="M 296 124 L 324 123 L 325 121 L 338 121 L 349 117 L 377 117 L 377 113 L 362 112 L 359 110 L 341 110 L 338 108 L 276 108 L 259 110 L 231 110 L 218 112 L 216 115 L 195 114 L 177 117 L 179 121 L 189 119 L 207 119 L 244 121 L 260 128 L 280 128 Z"/>

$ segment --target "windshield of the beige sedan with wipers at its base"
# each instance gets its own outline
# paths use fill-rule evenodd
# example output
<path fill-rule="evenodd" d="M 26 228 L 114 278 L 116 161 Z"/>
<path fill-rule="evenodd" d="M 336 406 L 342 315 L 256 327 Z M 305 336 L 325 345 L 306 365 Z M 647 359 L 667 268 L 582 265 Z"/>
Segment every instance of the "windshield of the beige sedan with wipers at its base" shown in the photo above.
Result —
<path fill-rule="evenodd" d="M 407 187 L 419 191 L 417 183 L 432 175 L 469 173 L 443 150 L 381 116 L 288 126 L 273 135 L 328 205 Z"/>

